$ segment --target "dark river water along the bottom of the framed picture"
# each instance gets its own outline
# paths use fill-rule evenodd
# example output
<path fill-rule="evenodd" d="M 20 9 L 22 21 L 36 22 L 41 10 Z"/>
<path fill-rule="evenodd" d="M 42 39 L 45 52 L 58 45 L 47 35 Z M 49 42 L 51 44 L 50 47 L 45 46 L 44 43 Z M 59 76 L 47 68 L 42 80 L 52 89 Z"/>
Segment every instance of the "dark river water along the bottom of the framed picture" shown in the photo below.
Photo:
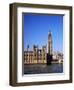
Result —
<path fill-rule="evenodd" d="M 63 64 L 62 63 L 52 63 L 50 65 L 46 64 L 24 64 L 24 74 L 43 74 L 43 73 L 62 73 Z"/>

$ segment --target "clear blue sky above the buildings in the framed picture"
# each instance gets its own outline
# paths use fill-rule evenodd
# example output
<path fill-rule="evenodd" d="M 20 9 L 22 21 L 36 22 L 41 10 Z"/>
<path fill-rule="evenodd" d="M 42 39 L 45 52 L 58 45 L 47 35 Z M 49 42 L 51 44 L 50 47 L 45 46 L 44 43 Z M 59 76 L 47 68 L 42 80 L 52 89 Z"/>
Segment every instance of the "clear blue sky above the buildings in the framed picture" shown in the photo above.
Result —
<path fill-rule="evenodd" d="M 53 51 L 63 51 L 63 16 L 23 14 L 24 21 L 24 49 L 32 49 L 33 45 L 46 45 L 48 32 L 52 32 Z"/>

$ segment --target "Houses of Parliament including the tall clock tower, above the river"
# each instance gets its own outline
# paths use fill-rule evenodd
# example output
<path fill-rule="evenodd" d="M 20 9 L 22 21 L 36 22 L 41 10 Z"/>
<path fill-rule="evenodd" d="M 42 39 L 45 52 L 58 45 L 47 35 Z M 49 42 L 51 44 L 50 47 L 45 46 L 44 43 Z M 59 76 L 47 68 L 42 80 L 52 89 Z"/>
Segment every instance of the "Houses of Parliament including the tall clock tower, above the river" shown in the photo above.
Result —
<path fill-rule="evenodd" d="M 46 45 L 42 48 L 33 45 L 33 49 L 24 51 L 24 64 L 49 64 L 52 61 L 52 33 L 48 33 L 48 47 Z"/>

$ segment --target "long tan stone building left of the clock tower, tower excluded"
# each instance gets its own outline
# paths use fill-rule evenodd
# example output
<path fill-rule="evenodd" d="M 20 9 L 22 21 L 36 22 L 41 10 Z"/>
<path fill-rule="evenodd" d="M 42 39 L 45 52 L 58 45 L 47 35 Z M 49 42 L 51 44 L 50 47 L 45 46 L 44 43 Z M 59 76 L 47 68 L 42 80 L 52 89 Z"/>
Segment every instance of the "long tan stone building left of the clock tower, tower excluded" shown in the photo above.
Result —
<path fill-rule="evenodd" d="M 33 64 L 33 63 L 47 63 L 46 62 L 46 46 L 42 46 L 42 49 L 39 49 L 38 46 L 33 46 L 33 51 L 24 51 L 24 63 Z"/>

